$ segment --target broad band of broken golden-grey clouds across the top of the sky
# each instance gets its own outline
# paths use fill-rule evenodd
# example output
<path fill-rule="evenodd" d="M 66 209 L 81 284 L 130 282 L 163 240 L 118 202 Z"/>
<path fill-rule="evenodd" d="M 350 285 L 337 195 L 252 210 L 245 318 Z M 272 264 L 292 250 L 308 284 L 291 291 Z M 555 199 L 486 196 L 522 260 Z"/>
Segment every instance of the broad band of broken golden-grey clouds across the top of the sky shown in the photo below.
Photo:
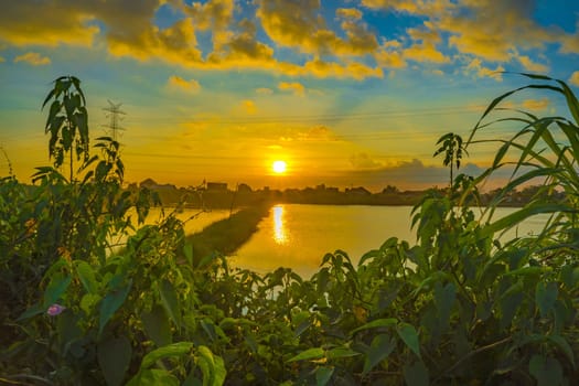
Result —
<path fill-rule="evenodd" d="M 0 43 L 104 47 L 115 57 L 163 61 L 185 68 L 253 68 L 358 81 L 383 77 L 383 69 L 404 68 L 408 62 L 447 64 L 451 57 L 467 57 L 469 63 L 479 58 L 479 76 L 484 76 L 485 68 L 506 64 L 546 73 L 549 45 L 558 44 L 560 53 L 579 52 L 578 32 L 569 34 L 534 20 L 535 1 L 345 3 L 360 7 L 337 8 L 335 18 L 328 20 L 331 15 L 320 0 L 53 0 L 34 2 L 34 7 L 29 1 L 10 1 L 0 14 Z M 172 25 L 156 25 L 161 7 L 172 9 Z M 375 20 L 365 18 L 368 9 L 422 22 L 379 36 L 376 31 L 382 28 L 367 24 Z M 39 14 L 66 17 L 54 22 Z"/>

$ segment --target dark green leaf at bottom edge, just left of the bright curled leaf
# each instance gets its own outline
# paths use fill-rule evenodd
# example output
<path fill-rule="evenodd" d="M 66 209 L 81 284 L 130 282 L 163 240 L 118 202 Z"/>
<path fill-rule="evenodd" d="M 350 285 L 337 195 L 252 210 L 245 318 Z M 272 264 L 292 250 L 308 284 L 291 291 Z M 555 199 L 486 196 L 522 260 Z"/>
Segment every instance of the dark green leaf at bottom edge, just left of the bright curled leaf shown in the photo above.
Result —
<path fill-rule="evenodd" d="M 107 385 L 116 386 L 122 383 L 129 368 L 132 349 L 126 336 L 112 337 L 98 343 L 98 365 L 107 380 Z"/>

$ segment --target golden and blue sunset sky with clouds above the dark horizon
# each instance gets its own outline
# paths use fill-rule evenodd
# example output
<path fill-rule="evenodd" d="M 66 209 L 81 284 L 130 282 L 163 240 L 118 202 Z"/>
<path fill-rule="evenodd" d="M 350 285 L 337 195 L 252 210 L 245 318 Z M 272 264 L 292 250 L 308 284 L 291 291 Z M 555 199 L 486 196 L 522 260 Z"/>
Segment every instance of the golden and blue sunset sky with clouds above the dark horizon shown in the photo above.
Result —
<path fill-rule="evenodd" d="M 577 89 L 579 1 L 6 1 L 0 146 L 20 181 L 50 164 L 41 104 L 74 75 L 92 137 L 107 99 L 122 104 L 127 182 L 421 189 L 447 183 L 441 135 L 467 138 L 494 97 L 529 82 L 505 71 Z M 548 94 L 507 107 L 565 114 Z M 492 149 L 469 150 L 476 174 Z"/>

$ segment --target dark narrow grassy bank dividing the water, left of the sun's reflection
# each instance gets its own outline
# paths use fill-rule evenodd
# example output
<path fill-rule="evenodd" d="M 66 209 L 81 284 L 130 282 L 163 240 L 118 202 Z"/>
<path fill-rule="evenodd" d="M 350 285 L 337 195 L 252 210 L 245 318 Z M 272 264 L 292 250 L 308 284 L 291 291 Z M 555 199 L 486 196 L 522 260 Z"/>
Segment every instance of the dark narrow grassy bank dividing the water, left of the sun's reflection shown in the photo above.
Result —
<path fill-rule="evenodd" d="M 230 255 L 251 237 L 257 230 L 257 224 L 268 213 L 269 205 L 266 204 L 243 208 L 200 233 L 189 235 L 186 243 L 193 246 L 196 259 L 212 254 Z"/>

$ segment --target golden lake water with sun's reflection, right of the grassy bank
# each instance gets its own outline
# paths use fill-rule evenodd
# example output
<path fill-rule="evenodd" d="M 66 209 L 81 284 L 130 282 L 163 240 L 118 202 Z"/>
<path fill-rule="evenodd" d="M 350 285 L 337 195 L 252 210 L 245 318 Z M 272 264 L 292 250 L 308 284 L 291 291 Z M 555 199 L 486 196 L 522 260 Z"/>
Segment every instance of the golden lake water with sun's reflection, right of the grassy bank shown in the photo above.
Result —
<path fill-rule="evenodd" d="M 516 208 L 501 207 L 495 216 Z M 354 265 L 368 250 L 379 248 L 389 237 L 412 245 L 411 206 L 303 205 L 280 204 L 258 225 L 251 238 L 232 256 L 234 267 L 257 272 L 289 267 L 309 278 L 319 269 L 323 256 L 342 249 Z M 505 237 L 538 232 L 547 215 L 538 215 L 512 229 Z"/>

